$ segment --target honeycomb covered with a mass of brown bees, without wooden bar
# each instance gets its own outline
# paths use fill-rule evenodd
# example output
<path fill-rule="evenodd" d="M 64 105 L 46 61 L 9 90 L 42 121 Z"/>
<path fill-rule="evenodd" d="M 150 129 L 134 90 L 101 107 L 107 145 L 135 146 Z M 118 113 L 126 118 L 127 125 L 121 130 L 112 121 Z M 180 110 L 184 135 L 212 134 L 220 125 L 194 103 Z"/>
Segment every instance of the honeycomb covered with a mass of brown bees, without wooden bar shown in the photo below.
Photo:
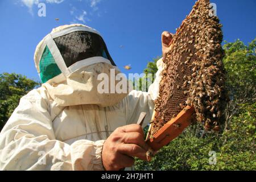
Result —
<path fill-rule="evenodd" d="M 185 106 L 195 109 L 191 122 L 203 123 L 208 131 L 220 130 L 226 103 L 223 36 L 219 19 L 211 12 L 209 1 L 199 0 L 173 37 L 171 51 L 163 59 L 166 68 L 151 137 Z"/>

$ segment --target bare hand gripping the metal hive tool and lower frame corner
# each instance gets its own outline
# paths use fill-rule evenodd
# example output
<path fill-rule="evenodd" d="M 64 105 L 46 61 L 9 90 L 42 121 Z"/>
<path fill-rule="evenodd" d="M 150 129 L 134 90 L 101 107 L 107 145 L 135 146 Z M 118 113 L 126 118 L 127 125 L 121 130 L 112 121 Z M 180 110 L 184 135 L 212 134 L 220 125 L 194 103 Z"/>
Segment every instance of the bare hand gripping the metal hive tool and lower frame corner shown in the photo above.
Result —
<path fill-rule="evenodd" d="M 107 171 L 117 171 L 134 164 L 134 158 L 147 160 L 148 146 L 140 125 L 118 127 L 102 148 L 102 163 Z"/>

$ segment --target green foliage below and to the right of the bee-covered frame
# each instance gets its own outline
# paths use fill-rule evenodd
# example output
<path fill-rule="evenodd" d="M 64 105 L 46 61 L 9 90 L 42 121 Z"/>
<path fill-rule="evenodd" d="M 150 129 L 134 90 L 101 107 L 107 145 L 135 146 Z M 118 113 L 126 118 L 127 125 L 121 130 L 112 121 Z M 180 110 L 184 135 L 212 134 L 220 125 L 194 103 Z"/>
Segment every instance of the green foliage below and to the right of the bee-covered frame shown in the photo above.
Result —
<path fill-rule="evenodd" d="M 230 96 L 224 130 L 207 133 L 200 124 L 189 126 L 150 163 L 136 159 L 135 169 L 256 170 L 255 46 L 256 39 L 249 46 L 241 40 L 224 45 L 226 86 Z M 152 63 L 150 67 L 154 68 Z M 216 164 L 209 163 L 210 151 L 216 152 Z"/>

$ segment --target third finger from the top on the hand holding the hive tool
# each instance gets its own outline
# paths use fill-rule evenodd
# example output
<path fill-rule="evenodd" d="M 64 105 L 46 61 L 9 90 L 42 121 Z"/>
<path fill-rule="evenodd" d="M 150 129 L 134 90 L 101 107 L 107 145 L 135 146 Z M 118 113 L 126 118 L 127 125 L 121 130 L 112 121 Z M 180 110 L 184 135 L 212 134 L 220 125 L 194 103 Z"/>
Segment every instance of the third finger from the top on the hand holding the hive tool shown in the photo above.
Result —
<path fill-rule="evenodd" d="M 139 159 L 147 161 L 146 150 L 142 147 L 138 146 L 137 144 L 119 144 L 118 152 L 121 154 L 125 154 L 132 157 L 137 157 Z"/>

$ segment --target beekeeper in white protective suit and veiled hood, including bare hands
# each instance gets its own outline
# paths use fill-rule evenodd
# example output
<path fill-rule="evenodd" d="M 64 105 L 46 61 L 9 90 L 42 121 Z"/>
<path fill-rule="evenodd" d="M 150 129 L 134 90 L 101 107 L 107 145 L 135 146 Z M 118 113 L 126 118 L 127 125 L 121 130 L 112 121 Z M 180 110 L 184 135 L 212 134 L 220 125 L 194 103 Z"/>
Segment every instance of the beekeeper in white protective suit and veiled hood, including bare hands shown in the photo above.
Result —
<path fill-rule="evenodd" d="M 171 37 L 163 33 L 163 53 Z M 147 93 L 99 93 L 98 75 L 119 70 L 101 35 L 82 24 L 53 29 L 34 60 L 43 84 L 20 99 L 1 131 L 1 170 L 119 170 L 133 166 L 134 156 L 146 160 L 134 123 L 142 111 L 151 119 L 162 60 Z"/>

